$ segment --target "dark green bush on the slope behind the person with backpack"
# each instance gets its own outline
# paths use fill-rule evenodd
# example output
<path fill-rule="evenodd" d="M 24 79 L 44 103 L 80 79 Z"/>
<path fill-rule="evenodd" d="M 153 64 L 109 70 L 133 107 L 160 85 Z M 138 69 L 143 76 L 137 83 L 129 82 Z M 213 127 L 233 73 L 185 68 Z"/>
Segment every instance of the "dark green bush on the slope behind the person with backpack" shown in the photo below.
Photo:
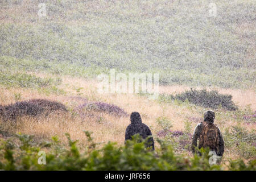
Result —
<path fill-rule="evenodd" d="M 171 102 L 174 100 L 188 101 L 192 104 L 211 109 L 217 109 L 221 106 L 225 110 L 237 110 L 237 106 L 232 101 L 231 95 L 220 94 L 216 90 L 207 91 L 206 89 L 196 90 L 191 88 L 191 90 L 176 94 L 175 96 L 161 94 L 159 100 L 160 102 Z"/>

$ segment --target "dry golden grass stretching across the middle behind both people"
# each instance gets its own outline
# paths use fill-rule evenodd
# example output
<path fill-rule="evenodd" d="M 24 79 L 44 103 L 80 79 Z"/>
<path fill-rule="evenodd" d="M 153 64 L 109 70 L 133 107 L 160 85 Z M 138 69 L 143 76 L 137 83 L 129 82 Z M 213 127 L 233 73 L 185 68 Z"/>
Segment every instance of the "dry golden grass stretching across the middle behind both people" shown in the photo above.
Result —
<path fill-rule="evenodd" d="M 43 73 L 37 73 L 37 76 L 46 76 Z M 204 110 L 196 111 L 191 110 L 187 106 L 178 106 L 175 104 L 160 104 L 154 100 L 147 100 L 144 97 L 136 94 L 98 94 L 97 85 L 94 80 L 83 80 L 81 78 L 62 77 L 63 84 L 60 88 L 63 88 L 66 92 L 65 95 L 49 94 L 48 96 L 38 90 L 11 88 L 0 88 L 0 104 L 7 105 L 15 102 L 14 93 L 20 93 L 22 100 L 30 100 L 32 98 L 44 98 L 48 100 L 60 101 L 68 108 L 74 108 L 84 101 L 81 98 L 86 98 L 88 101 L 102 101 L 109 104 L 115 104 L 131 113 L 132 111 L 138 111 L 142 115 L 143 123 L 146 123 L 152 131 L 154 137 L 158 131 L 161 130 L 160 126 L 156 123 L 156 118 L 164 115 L 172 121 L 172 130 L 184 130 L 185 121 L 188 121 L 189 117 L 202 118 Z M 77 92 L 74 88 L 80 88 L 82 96 L 76 96 Z M 180 93 L 189 89 L 188 86 L 160 86 L 161 93 Z M 213 89 L 213 88 L 207 88 Z M 255 92 L 254 90 L 232 90 L 232 89 L 220 89 L 221 93 L 232 94 L 233 100 L 237 102 L 240 107 L 245 107 L 251 104 L 251 108 L 256 110 L 255 105 Z M 75 97 L 74 97 L 75 96 Z M 10 133 L 24 133 L 35 135 L 38 140 L 51 139 L 51 137 L 57 135 L 63 144 L 67 144 L 65 133 L 69 133 L 72 139 L 79 140 L 79 146 L 86 145 L 86 137 L 84 130 L 93 131 L 93 137 L 97 143 L 106 143 L 108 141 L 117 142 L 122 145 L 125 139 L 125 129 L 129 125 L 129 117 L 118 118 L 106 113 L 91 113 L 92 116 L 81 118 L 80 115 L 68 114 L 51 114 L 48 117 L 20 118 L 16 123 L 3 123 L 4 130 Z M 96 116 L 93 116 L 96 115 Z M 99 119 L 100 118 L 100 119 Z M 225 121 L 222 119 L 216 119 L 216 123 L 220 126 L 221 130 L 227 127 L 236 125 L 233 119 L 230 118 Z M 192 130 L 197 125 L 197 122 L 192 122 Z M 243 125 L 247 129 L 255 129 L 255 125 Z M 157 147 L 157 145 L 156 145 Z M 191 155 L 189 153 L 189 155 Z M 227 152 L 226 156 L 237 158 Z"/>

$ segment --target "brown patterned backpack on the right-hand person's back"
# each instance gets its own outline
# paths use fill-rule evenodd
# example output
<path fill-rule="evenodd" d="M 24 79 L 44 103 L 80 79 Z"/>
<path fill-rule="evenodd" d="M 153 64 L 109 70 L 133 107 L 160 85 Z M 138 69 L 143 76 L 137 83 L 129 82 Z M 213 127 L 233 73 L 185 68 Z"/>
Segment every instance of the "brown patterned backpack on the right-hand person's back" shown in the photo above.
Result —
<path fill-rule="evenodd" d="M 213 123 L 203 122 L 203 130 L 199 138 L 199 148 L 209 147 L 217 152 L 218 148 L 218 127 Z"/>

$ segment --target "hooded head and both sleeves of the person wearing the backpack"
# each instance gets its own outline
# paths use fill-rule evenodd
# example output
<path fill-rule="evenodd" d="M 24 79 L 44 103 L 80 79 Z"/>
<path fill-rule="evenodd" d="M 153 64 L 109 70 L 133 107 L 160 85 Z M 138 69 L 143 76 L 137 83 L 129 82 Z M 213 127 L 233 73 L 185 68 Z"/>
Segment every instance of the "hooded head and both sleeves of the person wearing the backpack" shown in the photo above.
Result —
<path fill-rule="evenodd" d="M 214 118 L 215 118 L 214 111 L 208 110 L 204 113 L 204 122 L 213 123 Z M 221 135 L 220 129 L 218 127 L 217 127 L 217 129 L 218 129 L 218 146 L 216 146 L 217 151 L 215 151 L 215 152 L 218 156 L 222 156 L 224 154 L 224 140 Z M 195 148 L 197 147 L 197 139 L 200 138 L 200 135 L 202 134 L 202 132 L 203 132 L 203 122 L 199 123 L 196 126 L 195 131 L 193 133 L 192 145 L 191 145 L 193 154 L 195 154 Z"/>

